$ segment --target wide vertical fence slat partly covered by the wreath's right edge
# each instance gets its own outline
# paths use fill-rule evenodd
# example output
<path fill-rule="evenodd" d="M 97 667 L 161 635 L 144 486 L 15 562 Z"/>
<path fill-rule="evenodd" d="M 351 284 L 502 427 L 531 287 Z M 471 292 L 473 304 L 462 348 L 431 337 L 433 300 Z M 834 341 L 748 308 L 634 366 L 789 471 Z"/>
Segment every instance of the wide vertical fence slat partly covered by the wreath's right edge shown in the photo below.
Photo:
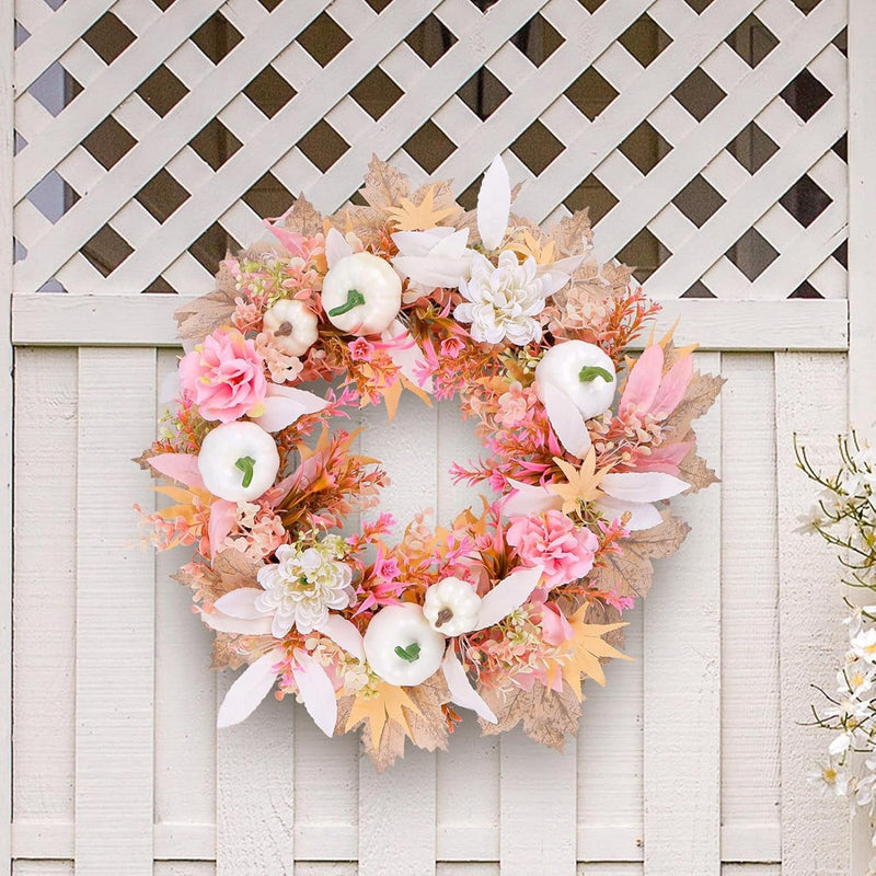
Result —
<path fill-rule="evenodd" d="M 719 354 L 696 356 L 717 373 Z M 721 396 L 695 425 L 721 462 Z M 645 604 L 645 873 L 721 871 L 721 486 L 673 500 L 691 525 Z M 641 609 L 639 609 L 641 610 Z"/>

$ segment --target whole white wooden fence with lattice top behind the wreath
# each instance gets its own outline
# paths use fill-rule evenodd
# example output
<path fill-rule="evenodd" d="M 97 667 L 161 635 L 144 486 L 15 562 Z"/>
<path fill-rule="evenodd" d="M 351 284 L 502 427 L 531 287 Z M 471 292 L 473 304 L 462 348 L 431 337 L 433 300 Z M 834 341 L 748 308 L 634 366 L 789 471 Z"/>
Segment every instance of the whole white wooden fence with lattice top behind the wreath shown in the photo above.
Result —
<path fill-rule="evenodd" d="M 11 872 L 863 873 L 866 831 L 853 851 L 843 807 L 806 784 L 808 684 L 842 631 L 834 566 L 793 532 L 809 496 L 791 436 L 827 459 L 850 416 L 876 417 L 874 33 L 872 0 L 3 4 Z M 701 430 L 722 483 L 685 500 L 636 661 L 587 692 L 562 754 L 468 721 L 449 752 L 378 775 L 289 701 L 217 733 L 229 679 L 169 579 L 181 555 L 138 542 L 130 506 L 154 498 L 129 460 L 178 295 L 289 192 L 343 204 L 372 151 L 463 198 L 502 151 L 538 219 L 592 201 L 601 253 L 642 265 L 728 378 Z M 400 518 L 472 498 L 446 474 L 476 451 L 452 405 L 364 422 Z"/>

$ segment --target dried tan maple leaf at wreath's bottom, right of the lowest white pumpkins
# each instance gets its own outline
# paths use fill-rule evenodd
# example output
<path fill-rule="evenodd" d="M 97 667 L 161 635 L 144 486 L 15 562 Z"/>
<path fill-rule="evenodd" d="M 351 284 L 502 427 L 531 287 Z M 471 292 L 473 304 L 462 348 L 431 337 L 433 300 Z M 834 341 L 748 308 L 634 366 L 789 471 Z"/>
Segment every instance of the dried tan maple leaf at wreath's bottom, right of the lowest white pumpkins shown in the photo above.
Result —
<path fill-rule="evenodd" d="M 495 736 L 510 730 L 522 721 L 527 736 L 543 746 L 562 751 L 565 734 L 575 735 L 578 730 L 581 706 L 565 684 L 561 693 L 539 682 L 530 691 L 522 688 L 508 690 L 484 687 L 480 689 L 480 693 L 498 718 L 496 724 L 480 718 L 483 736 Z"/>

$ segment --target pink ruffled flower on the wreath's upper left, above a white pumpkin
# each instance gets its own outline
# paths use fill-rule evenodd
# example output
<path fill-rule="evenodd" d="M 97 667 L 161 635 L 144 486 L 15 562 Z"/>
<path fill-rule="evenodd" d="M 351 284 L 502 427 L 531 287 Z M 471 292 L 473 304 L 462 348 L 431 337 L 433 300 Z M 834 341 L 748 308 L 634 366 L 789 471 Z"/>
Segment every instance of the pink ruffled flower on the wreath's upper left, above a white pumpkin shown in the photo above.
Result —
<path fill-rule="evenodd" d="M 217 328 L 180 360 L 183 392 L 204 419 L 231 423 L 258 408 L 267 393 L 255 344 L 234 328 Z"/>

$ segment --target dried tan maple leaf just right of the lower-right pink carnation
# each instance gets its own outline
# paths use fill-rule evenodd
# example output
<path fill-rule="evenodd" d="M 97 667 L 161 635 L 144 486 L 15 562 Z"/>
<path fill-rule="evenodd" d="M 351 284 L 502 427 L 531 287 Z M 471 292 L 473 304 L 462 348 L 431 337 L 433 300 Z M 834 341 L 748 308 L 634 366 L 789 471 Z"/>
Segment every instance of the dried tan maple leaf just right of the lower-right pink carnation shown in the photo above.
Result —
<path fill-rule="evenodd" d="M 620 542 L 621 551 L 603 555 L 589 575 L 590 586 L 618 596 L 646 596 L 654 577 L 652 560 L 670 556 L 684 541 L 690 527 L 662 512 L 664 521 L 650 529 L 631 532 Z"/>

